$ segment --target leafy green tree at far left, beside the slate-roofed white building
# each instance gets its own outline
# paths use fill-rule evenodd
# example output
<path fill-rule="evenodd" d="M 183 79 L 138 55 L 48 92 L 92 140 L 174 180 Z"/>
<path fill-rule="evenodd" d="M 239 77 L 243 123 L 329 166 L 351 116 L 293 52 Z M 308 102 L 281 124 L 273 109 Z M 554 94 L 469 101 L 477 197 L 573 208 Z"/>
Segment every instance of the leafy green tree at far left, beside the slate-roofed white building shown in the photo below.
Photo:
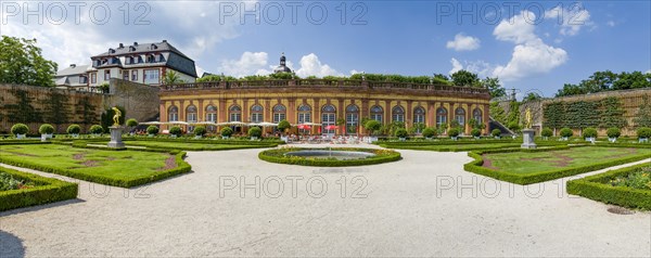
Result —
<path fill-rule="evenodd" d="M 36 39 L 2 36 L 0 41 L 0 83 L 54 87 L 56 63 L 43 59 Z"/>

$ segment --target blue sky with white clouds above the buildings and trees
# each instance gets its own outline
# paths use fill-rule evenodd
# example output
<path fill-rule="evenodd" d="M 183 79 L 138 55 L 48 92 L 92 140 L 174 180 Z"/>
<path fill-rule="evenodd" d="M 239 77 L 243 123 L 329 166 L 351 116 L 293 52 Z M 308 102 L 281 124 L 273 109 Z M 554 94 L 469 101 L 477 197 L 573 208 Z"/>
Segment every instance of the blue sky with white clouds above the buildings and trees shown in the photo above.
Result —
<path fill-rule="evenodd" d="M 2 1 L 0 33 L 37 38 L 46 57 L 60 67 L 87 64 L 90 55 L 120 42 L 167 39 L 194 59 L 200 70 L 210 73 L 269 73 L 285 52 L 301 76 L 431 75 L 463 68 L 497 76 L 521 93 L 535 90 L 548 96 L 596 70 L 651 70 L 650 1 L 74 4 Z M 256 7 L 259 15 L 242 16 L 243 8 Z M 37 11 L 27 15 L 26 8 Z"/>

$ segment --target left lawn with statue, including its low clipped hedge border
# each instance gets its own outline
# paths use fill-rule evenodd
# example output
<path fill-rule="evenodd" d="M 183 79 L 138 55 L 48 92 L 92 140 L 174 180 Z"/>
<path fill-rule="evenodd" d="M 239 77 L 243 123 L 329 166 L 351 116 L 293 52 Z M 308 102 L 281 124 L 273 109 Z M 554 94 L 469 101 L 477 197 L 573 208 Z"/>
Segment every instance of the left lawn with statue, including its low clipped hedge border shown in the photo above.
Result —
<path fill-rule="evenodd" d="M 117 186 L 133 186 L 190 170 L 187 163 L 170 153 L 59 144 L 3 145 L 0 162 Z"/>

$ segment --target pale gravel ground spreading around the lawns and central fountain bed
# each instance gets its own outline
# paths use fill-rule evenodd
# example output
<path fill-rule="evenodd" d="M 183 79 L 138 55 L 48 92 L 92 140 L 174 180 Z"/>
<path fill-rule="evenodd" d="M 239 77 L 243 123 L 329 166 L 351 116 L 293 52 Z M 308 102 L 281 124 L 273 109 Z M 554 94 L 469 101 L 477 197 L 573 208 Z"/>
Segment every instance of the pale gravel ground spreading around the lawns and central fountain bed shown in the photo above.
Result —
<path fill-rule="evenodd" d="M 2 212 L 0 257 L 651 256 L 651 214 L 567 196 L 567 179 L 498 182 L 463 171 L 465 153 L 320 169 L 259 151 L 189 153 L 189 175 Z"/>

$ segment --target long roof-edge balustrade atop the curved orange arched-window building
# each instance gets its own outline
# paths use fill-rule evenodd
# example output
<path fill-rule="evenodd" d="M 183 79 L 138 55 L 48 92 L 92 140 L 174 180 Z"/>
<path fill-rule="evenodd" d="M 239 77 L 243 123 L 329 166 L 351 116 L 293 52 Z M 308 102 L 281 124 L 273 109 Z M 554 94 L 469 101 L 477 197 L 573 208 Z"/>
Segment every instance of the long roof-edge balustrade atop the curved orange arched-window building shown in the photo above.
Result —
<path fill-rule="evenodd" d="M 476 87 L 459 87 L 447 85 L 429 85 L 394 81 L 368 81 L 368 80 L 329 80 L 329 79 L 295 79 L 295 80 L 237 80 L 237 81 L 210 81 L 191 82 L 181 85 L 163 85 L 163 91 L 202 90 L 202 89 L 255 89 L 255 88 L 348 88 L 348 89 L 408 89 L 423 91 L 439 91 L 465 94 L 487 94 L 488 90 Z"/>

